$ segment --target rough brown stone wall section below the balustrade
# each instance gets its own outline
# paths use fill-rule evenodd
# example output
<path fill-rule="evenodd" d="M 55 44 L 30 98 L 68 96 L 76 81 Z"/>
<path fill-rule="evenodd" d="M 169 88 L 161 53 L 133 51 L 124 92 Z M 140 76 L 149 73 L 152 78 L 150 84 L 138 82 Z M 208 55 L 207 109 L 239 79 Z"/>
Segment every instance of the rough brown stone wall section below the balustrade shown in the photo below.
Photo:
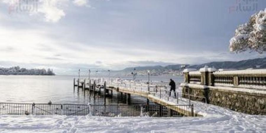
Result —
<path fill-rule="evenodd" d="M 238 111 L 248 114 L 266 115 L 266 94 L 247 93 L 233 90 L 223 90 L 214 88 L 192 88 L 183 87 L 183 93 L 188 93 L 195 96 L 205 97 L 207 103 L 226 107 L 233 111 Z M 187 95 L 183 95 L 189 98 Z M 191 100 L 204 102 L 204 98 L 190 97 Z"/>

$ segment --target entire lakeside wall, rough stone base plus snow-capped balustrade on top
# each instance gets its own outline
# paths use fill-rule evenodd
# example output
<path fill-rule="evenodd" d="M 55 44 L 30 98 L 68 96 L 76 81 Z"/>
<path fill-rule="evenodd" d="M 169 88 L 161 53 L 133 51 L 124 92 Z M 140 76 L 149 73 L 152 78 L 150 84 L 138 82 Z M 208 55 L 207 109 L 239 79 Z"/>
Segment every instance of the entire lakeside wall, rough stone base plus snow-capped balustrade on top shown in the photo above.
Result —
<path fill-rule="evenodd" d="M 185 69 L 182 92 L 207 103 L 249 113 L 266 114 L 266 69 Z M 187 95 L 183 95 L 188 98 Z"/>

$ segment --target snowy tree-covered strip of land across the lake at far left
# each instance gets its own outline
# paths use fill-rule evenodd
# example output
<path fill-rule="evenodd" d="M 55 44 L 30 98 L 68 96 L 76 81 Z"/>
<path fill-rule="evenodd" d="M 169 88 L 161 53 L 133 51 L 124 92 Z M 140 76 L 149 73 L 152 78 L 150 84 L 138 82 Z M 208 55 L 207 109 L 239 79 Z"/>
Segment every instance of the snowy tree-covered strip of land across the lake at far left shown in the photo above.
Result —
<path fill-rule="evenodd" d="M 17 67 L 0 67 L 0 75 L 55 75 L 53 69 L 26 69 Z"/>

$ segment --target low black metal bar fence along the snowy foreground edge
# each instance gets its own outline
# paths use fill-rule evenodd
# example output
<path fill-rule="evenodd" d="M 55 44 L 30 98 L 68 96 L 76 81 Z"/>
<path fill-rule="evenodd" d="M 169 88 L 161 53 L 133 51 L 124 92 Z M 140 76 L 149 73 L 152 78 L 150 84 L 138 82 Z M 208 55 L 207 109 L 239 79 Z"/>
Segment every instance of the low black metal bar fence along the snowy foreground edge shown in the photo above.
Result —
<path fill-rule="evenodd" d="M 179 112 L 171 109 L 177 107 Z M 183 111 L 183 112 L 182 112 Z M 188 113 L 190 112 L 190 113 Z M 1 115 L 193 116 L 193 105 L 86 105 L 0 103 Z"/>

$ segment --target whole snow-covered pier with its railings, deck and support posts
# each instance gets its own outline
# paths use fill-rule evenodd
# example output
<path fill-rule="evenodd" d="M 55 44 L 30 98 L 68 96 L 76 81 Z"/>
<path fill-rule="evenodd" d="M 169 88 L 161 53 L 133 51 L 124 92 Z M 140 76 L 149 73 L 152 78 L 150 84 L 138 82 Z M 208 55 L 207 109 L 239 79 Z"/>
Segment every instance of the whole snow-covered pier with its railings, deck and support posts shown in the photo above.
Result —
<path fill-rule="evenodd" d="M 147 104 L 149 101 L 158 103 L 168 108 L 168 112 L 171 116 L 171 112 L 176 111 L 184 116 L 202 116 L 194 111 L 194 106 L 197 102 L 193 102 L 190 99 L 182 98 L 181 91 L 177 91 L 175 97 L 169 96 L 168 86 L 161 82 L 155 82 L 147 84 L 144 82 L 132 82 L 132 81 L 119 81 L 119 82 L 97 82 L 98 80 L 74 80 L 74 88 L 82 88 L 82 90 L 91 90 L 102 92 L 106 98 L 108 95 L 113 95 L 113 91 L 126 95 L 126 103 L 130 104 L 131 95 L 138 95 L 147 98 Z M 178 90 L 178 89 L 177 89 Z M 85 92 L 85 91 L 84 91 Z M 84 94 L 85 95 L 85 94 Z M 172 95 L 173 92 L 172 92 Z M 189 95 L 188 95 L 189 96 Z M 190 96 L 189 96 L 190 97 Z M 204 99 L 204 97 L 202 97 Z M 104 100 L 105 101 L 105 100 Z M 106 102 L 104 102 L 106 104 Z M 207 104 L 204 101 L 203 108 L 207 108 Z M 200 105 L 202 106 L 202 104 Z"/>

